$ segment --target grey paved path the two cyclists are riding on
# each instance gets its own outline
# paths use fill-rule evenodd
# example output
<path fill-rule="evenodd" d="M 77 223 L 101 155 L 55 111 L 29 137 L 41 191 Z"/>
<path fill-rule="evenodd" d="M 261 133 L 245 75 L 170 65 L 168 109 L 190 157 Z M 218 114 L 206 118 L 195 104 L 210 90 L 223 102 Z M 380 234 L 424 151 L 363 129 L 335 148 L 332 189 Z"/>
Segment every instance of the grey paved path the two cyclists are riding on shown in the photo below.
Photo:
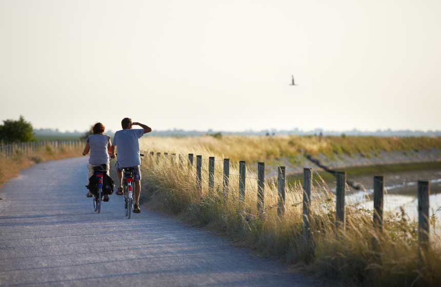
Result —
<path fill-rule="evenodd" d="M 0 189 L 0 285 L 314 286 L 286 265 L 122 196 L 92 210 L 86 158 L 39 163 Z"/>

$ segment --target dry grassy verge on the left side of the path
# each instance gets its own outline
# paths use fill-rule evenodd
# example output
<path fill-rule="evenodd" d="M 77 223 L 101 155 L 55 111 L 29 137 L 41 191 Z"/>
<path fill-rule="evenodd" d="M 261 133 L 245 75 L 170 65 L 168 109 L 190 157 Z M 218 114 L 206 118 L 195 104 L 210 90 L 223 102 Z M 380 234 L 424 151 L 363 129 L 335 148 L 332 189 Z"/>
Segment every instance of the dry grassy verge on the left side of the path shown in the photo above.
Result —
<path fill-rule="evenodd" d="M 26 155 L 23 152 L 16 150 L 11 157 L 0 157 L 0 187 L 8 179 L 17 176 L 21 170 L 28 168 L 35 163 L 47 160 L 81 156 L 83 148 L 84 147 L 55 148 L 48 144 L 39 151 L 30 152 L 29 155 Z"/>

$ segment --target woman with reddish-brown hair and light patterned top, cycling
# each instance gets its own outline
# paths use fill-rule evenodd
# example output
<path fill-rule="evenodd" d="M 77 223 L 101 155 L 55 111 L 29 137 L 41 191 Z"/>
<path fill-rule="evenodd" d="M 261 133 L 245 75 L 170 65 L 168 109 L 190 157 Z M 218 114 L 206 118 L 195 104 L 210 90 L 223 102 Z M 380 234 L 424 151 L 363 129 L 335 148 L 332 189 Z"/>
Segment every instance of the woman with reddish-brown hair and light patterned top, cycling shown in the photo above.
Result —
<path fill-rule="evenodd" d="M 86 186 L 89 185 L 89 178 L 93 176 L 94 167 L 102 166 L 106 168 L 106 174 L 109 175 L 109 153 L 112 147 L 110 136 L 103 134 L 105 127 L 101 122 L 97 122 L 93 128 L 93 134 L 89 135 L 86 139 L 86 147 L 84 148 L 83 155 L 86 155 L 90 151 L 89 164 L 87 165 L 87 180 Z M 87 197 L 92 197 L 90 191 L 86 194 Z M 104 201 L 109 200 L 109 195 L 104 195 Z"/>

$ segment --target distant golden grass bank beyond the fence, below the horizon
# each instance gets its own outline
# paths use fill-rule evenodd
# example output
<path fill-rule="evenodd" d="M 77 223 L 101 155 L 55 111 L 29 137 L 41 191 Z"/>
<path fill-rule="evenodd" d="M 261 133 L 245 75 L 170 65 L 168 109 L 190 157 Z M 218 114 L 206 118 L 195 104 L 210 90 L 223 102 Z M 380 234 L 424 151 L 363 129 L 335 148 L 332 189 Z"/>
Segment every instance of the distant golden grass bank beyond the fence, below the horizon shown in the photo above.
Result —
<path fill-rule="evenodd" d="M 356 153 L 370 157 L 381 151 L 441 150 L 441 137 L 374 137 L 374 136 L 199 136 L 146 137 L 141 140 L 144 150 L 182 153 L 204 153 L 228 156 L 232 160 L 272 160 L 294 157 L 300 151 L 327 156 Z"/>

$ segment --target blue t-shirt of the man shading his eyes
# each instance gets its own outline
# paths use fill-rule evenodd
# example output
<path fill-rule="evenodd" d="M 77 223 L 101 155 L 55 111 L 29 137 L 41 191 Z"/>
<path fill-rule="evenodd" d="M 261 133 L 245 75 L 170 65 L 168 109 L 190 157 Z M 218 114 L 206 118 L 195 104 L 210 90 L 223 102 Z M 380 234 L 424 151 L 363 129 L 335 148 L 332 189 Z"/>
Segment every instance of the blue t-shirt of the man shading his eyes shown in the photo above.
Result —
<path fill-rule="evenodd" d="M 141 165 L 139 158 L 139 138 L 144 135 L 144 129 L 121 130 L 113 137 L 113 146 L 117 147 L 117 160 L 122 168 Z"/>

